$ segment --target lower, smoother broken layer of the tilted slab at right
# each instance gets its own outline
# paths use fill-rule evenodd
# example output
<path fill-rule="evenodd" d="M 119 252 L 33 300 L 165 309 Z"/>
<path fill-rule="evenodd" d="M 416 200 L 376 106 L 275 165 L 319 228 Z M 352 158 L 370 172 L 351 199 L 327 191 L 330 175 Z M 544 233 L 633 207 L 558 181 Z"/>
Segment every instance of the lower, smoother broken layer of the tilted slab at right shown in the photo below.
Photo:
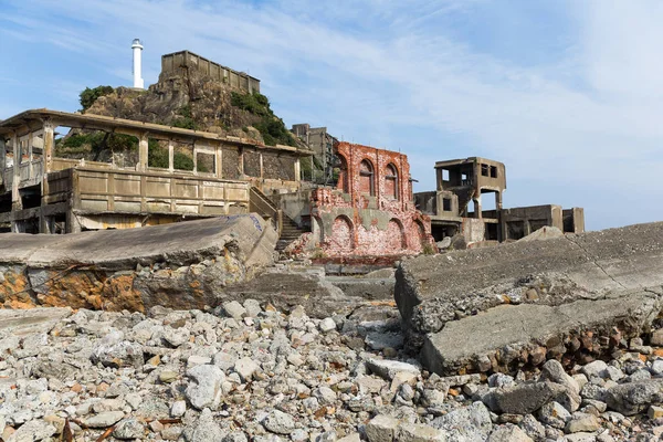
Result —
<path fill-rule="evenodd" d="M 662 295 L 632 291 L 560 306 L 501 305 L 449 322 L 442 330 L 429 334 L 421 359 L 432 371 L 445 375 L 461 369 L 481 371 L 482 356 L 492 359 L 493 370 L 512 371 L 522 365 L 534 365 L 530 357 L 534 349 L 544 347 L 547 351 L 548 347 L 564 345 L 582 330 L 602 332 L 603 336 L 609 336 L 613 328 L 635 330 L 635 334 L 646 330 L 663 309 Z M 464 345 L 459 345 L 460 341 Z"/>

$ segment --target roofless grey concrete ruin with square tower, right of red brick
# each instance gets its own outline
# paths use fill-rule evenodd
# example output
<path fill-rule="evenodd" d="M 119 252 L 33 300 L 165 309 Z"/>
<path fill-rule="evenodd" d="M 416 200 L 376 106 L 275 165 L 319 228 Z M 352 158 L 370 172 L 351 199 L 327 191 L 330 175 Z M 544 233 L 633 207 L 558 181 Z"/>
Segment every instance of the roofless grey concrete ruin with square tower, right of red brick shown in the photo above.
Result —
<path fill-rule="evenodd" d="M 435 162 L 436 191 L 414 194 L 417 208 L 431 218 L 435 241 L 462 234 L 469 244 L 519 240 L 549 225 L 565 233 L 585 231 L 582 208 L 502 207 L 506 190 L 504 164 L 478 157 Z M 483 210 L 482 199 L 493 193 L 495 209 Z M 490 197 L 487 197 L 490 198 Z"/>

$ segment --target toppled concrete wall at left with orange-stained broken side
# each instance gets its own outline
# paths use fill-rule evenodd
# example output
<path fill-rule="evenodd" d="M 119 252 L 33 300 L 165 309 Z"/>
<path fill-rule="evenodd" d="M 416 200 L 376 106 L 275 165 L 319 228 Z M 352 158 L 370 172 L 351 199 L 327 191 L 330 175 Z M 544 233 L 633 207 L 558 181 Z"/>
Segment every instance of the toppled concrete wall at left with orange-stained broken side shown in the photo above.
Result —
<path fill-rule="evenodd" d="M 200 308 L 273 263 L 276 232 L 256 214 L 126 231 L 0 235 L 0 303 L 144 312 Z"/>

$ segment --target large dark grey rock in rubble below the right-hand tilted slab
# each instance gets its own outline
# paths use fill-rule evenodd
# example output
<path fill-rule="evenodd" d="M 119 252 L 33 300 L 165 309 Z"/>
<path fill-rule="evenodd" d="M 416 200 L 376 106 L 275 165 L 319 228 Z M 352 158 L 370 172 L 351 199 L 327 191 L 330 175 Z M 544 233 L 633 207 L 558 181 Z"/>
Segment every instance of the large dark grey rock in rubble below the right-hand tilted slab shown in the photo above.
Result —
<path fill-rule="evenodd" d="M 525 382 L 494 390 L 483 402 L 496 413 L 529 414 L 566 392 L 566 387 L 554 382 Z"/>

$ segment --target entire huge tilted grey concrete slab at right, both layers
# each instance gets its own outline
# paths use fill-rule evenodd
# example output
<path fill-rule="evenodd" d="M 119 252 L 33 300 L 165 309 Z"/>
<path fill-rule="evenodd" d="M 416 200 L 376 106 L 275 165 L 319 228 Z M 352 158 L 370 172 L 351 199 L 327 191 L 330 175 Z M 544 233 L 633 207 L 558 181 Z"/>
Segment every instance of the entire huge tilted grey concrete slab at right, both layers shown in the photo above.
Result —
<path fill-rule="evenodd" d="M 409 330 L 428 334 L 423 359 L 434 371 L 476 369 L 470 360 L 485 357 L 509 370 L 532 362 L 523 352 L 536 346 L 578 351 L 569 340 L 586 332 L 646 333 L 662 308 L 662 257 L 663 223 L 631 225 L 406 260 L 394 296 Z M 608 349 L 598 337 L 583 349 Z"/>

